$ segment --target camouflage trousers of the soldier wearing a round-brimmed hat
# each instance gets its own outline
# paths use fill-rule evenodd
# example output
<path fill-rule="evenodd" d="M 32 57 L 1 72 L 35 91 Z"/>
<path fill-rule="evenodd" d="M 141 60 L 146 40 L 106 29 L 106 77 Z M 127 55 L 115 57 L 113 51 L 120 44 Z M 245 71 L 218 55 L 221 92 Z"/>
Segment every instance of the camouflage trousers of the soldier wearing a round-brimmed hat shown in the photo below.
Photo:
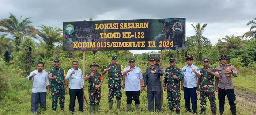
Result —
<path fill-rule="evenodd" d="M 90 89 L 88 90 L 90 105 L 99 105 L 101 100 L 101 89 Z"/>

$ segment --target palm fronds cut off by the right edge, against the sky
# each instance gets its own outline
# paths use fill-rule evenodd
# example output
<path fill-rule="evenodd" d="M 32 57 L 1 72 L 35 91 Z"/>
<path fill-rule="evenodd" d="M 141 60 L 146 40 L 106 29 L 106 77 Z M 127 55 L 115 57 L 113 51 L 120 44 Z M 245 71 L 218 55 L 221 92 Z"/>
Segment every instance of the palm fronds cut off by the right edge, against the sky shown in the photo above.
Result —
<path fill-rule="evenodd" d="M 250 20 L 247 23 L 247 26 L 249 26 L 251 24 L 252 24 L 252 26 L 250 27 L 250 31 L 244 33 L 243 37 L 245 37 L 245 38 L 251 37 L 253 39 L 256 39 L 256 30 L 253 30 L 253 29 L 256 29 L 256 18 L 254 18 L 254 20 Z"/>

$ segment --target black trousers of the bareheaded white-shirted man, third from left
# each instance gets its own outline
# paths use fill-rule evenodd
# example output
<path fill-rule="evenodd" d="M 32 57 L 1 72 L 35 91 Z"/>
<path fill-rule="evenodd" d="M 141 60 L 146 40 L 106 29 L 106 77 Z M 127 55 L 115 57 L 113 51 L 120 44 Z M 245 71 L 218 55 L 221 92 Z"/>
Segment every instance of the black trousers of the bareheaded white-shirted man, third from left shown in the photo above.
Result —
<path fill-rule="evenodd" d="M 83 111 L 83 88 L 81 89 L 70 89 L 69 88 L 69 96 L 70 96 L 70 104 L 69 111 L 75 112 L 75 101 L 76 97 L 79 104 L 79 110 Z"/>

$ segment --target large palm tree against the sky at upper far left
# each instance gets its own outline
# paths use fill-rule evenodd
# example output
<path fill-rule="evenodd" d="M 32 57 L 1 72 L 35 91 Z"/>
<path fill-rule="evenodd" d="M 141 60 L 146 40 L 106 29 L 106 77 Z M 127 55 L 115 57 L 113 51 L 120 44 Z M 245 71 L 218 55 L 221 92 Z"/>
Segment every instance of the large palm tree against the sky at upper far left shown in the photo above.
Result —
<path fill-rule="evenodd" d="M 0 32 L 6 32 L 11 34 L 15 39 L 15 46 L 16 50 L 19 50 L 19 46 L 21 43 L 21 39 L 24 36 L 30 36 L 31 33 L 35 30 L 33 26 L 30 24 L 32 23 L 29 18 L 25 18 L 21 21 L 22 16 L 18 20 L 15 15 L 10 13 L 9 18 L 4 18 L 0 20 Z M 31 37 L 36 37 L 32 35 Z"/>

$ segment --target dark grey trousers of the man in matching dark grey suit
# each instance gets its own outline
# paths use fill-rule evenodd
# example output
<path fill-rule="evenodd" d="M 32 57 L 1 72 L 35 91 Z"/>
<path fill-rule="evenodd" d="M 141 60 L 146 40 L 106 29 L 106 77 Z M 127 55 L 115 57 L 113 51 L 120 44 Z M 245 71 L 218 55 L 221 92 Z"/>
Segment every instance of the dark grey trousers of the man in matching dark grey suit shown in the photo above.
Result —
<path fill-rule="evenodd" d="M 148 111 L 154 111 L 154 102 L 155 102 L 155 111 L 162 111 L 161 105 L 161 91 L 147 91 L 147 100 L 148 100 Z"/>

